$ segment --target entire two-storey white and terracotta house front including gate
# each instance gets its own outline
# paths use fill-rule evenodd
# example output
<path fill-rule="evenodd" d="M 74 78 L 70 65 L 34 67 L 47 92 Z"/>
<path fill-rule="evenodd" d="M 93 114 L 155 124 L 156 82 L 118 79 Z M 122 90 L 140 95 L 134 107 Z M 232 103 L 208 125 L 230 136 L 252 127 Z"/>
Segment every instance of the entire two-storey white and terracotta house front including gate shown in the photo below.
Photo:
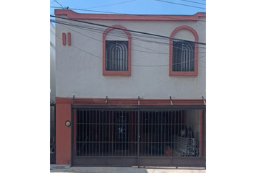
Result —
<path fill-rule="evenodd" d="M 206 13 L 55 15 L 56 164 L 205 166 Z"/>

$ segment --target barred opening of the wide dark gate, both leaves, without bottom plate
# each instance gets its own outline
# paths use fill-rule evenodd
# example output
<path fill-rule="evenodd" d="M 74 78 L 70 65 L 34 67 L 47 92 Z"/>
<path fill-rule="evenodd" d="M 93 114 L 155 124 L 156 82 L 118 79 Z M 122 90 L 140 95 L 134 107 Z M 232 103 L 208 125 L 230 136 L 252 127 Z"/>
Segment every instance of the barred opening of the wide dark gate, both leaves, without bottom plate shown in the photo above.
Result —
<path fill-rule="evenodd" d="M 74 156 L 198 157 L 200 110 L 77 110 Z"/>

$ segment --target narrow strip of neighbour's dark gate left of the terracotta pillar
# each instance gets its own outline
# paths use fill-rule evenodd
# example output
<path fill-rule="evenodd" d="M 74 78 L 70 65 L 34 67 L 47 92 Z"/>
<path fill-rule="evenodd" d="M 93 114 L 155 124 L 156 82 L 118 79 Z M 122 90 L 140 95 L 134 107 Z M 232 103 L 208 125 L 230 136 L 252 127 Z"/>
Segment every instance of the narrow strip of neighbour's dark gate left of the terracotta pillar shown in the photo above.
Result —
<path fill-rule="evenodd" d="M 56 143 L 56 129 L 55 129 L 55 104 L 51 103 L 49 104 L 49 163 L 55 164 L 56 160 L 56 149 L 55 149 L 55 143 Z"/>

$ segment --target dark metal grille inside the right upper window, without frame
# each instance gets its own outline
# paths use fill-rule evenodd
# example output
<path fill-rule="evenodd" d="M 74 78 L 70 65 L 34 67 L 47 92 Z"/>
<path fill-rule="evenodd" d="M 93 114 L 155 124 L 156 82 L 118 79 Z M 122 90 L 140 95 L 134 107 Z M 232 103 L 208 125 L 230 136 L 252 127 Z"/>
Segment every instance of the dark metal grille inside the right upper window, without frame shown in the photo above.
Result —
<path fill-rule="evenodd" d="M 195 44 L 173 42 L 173 71 L 195 71 Z"/>

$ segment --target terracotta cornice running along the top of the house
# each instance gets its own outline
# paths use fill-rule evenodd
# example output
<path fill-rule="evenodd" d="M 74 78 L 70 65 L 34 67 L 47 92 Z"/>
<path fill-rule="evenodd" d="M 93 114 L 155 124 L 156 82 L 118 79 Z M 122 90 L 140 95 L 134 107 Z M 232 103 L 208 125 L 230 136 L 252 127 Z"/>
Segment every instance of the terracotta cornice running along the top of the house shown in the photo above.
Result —
<path fill-rule="evenodd" d="M 82 14 L 69 9 L 55 9 L 56 16 L 67 16 L 68 19 L 82 20 L 125 20 L 125 21 L 197 21 L 207 17 L 206 12 L 193 15 L 155 15 L 155 14 Z"/>

